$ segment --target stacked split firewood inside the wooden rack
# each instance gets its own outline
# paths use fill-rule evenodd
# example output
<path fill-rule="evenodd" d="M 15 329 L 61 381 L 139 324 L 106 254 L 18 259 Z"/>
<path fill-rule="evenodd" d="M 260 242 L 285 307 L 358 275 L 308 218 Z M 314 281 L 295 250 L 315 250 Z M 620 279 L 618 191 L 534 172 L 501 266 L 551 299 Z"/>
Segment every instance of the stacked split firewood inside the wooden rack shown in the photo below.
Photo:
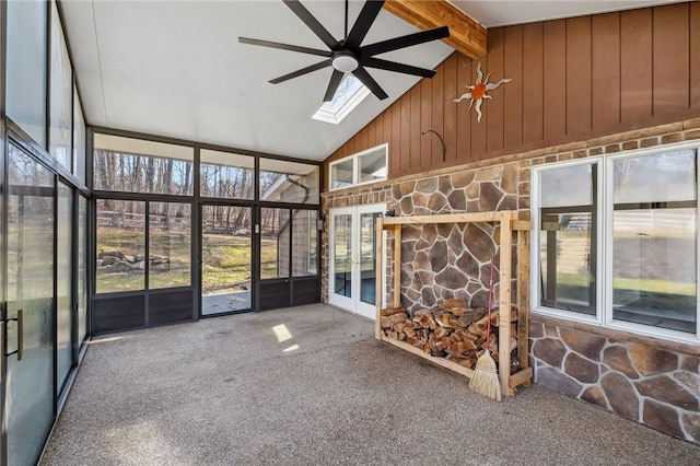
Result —
<path fill-rule="evenodd" d="M 486 349 L 488 312 L 485 307 L 469 308 L 465 300 L 445 300 L 432 310 L 419 311 L 411 317 L 404 307 L 382 310 L 384 335 L 420 348 L 433 357 L 444 357 L 474 369 Z M 517 312 L 511 312 L 512 334 Z M 490 350 L 498 361 L 499 311 L 491 311 Z M 511 351 L 517 342 L 511 338 Z"/>

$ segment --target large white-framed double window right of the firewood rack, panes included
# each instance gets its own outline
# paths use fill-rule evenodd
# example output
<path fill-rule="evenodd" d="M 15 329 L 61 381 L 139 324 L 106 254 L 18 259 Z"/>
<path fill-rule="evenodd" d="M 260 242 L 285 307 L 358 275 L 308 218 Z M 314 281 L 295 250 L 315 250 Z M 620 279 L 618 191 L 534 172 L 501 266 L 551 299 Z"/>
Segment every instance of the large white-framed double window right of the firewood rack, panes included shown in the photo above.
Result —
<path fill-rule="evenodd" d="M 534 306 L 698 340 L 698 149 L 535 167 Z"/>

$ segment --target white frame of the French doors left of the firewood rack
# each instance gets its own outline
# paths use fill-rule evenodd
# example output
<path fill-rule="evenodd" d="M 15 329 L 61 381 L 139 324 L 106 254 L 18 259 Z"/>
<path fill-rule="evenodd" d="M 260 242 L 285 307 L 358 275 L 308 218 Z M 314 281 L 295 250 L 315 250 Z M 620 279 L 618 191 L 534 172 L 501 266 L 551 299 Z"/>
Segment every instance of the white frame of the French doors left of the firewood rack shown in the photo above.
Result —
<path fill-rule="evenodd" d="M 363 213 L 383 213 L 386 210 L 385 203 L 370 203 L 363 206 L 352 206 L 352 207 L 339 207 L 330 209 L 328 212 L 329 217 L 329 229 L 328 229 L 328 303 L 335 306 L 341 307 L 346 311 L 350 311 L 353 314 L 361 315 L 363 317 L 370 318 L 372 321 L 375 319 L 376 313 L 376 304 L 368 304 L 361 300 L 361 284 L 362 284 L 362 270 L 361 270 L 361 257 L 360 257 L 360 246 L 361 246 L 361 215 Z M 342 296 L 335 293 L 335 225 L 336 225 L 336 215 L 347 215 L 351 217 L 351 247 L 352 247 L 352 257 L 351 257 L 351 271 L 350 271 L 350 280 L 351 280 L 351 290 L 350 298 Z M 373 229 L 373 231 L 375 231 Z M 377 241 L 384 241 L 384 235 Z M 376 257 L 375 265 L 376 265 Z M 377 273 L 381 273 L 381 283 L 384 283 L 386 280 L 386 271 L 377 270 Z"/>

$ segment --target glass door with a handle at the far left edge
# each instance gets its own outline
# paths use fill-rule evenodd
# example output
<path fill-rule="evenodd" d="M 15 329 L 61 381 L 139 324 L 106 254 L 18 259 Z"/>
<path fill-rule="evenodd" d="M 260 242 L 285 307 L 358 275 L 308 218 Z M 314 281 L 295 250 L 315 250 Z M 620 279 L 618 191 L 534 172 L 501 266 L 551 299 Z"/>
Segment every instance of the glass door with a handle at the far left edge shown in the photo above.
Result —
<path fill-rule="evenodd" d="M 27 465 L 54 420 L 55 178 L 12 143 L 7 213 L 7 458 Z"/>

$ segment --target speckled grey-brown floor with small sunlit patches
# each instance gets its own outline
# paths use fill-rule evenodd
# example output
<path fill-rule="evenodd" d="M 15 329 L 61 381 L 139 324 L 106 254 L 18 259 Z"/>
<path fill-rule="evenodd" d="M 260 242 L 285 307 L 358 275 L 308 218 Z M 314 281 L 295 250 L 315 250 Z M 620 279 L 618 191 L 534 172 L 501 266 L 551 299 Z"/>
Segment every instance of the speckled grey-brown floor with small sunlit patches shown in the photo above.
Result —
<path fill-rule="evenodd" d="M 698 465 L 545 388 L 501 404 L 325 305 L 93 340 L 43 465 Z"/>

